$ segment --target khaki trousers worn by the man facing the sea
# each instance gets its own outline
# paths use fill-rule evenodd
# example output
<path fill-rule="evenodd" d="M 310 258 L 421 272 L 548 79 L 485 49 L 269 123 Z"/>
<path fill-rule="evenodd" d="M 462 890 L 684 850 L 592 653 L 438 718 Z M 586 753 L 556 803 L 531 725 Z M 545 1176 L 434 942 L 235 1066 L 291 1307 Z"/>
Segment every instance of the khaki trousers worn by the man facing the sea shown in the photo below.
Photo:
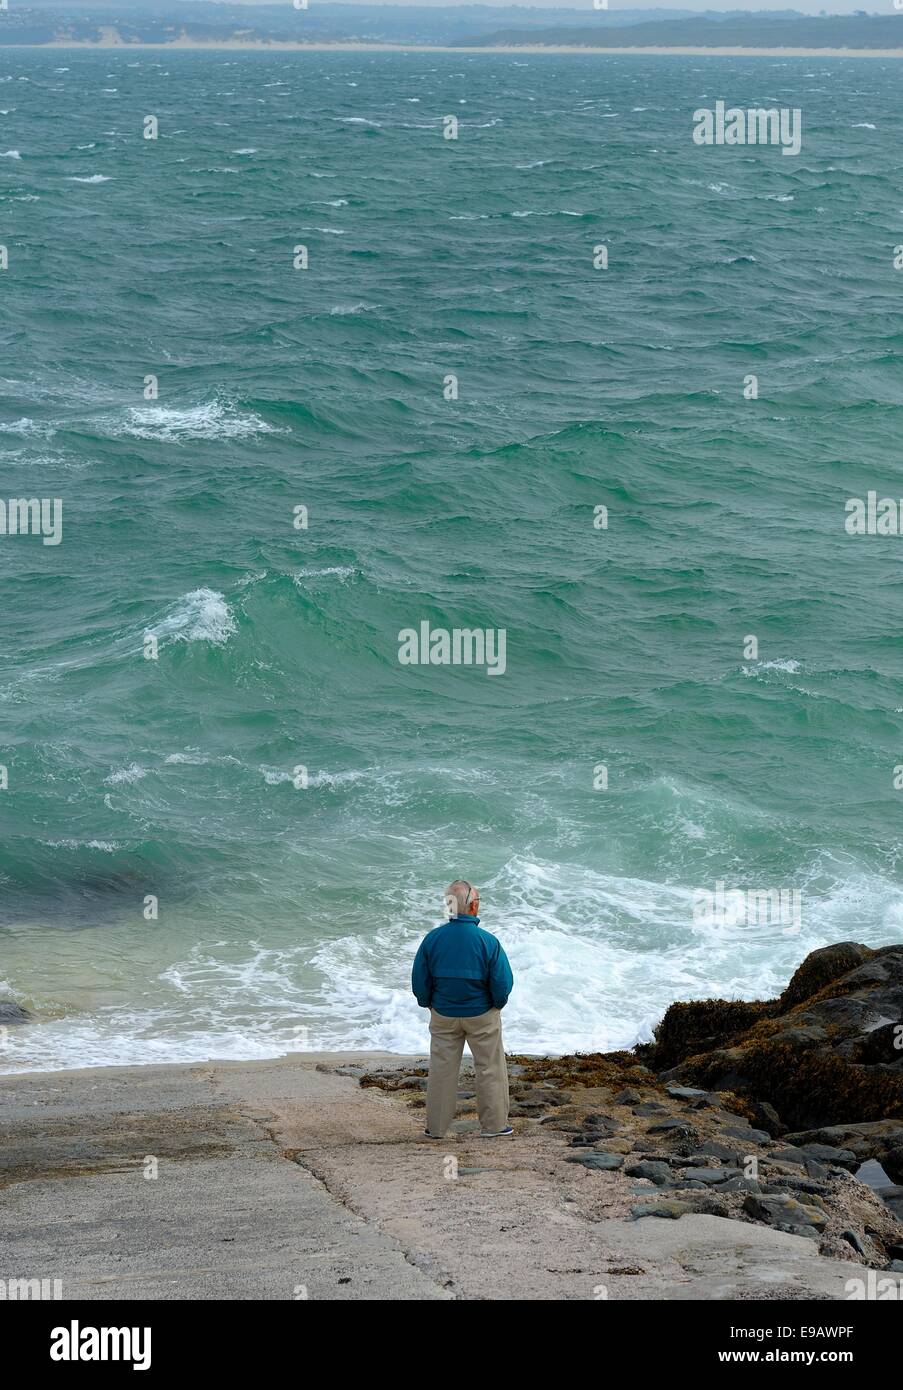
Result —
<path fill-rule="evenodd" d="M 426 1129 L 438 1138 L 442 1138 L 454 1119 L 465 1042 L 474 1054 L 479 1127 L 495 1133 L 508 1123 L 508 1069 L 502 1041 L 502 1012 L 489 1009 L 472 1019 L 450 1019 L 431 1009 Z"/>

